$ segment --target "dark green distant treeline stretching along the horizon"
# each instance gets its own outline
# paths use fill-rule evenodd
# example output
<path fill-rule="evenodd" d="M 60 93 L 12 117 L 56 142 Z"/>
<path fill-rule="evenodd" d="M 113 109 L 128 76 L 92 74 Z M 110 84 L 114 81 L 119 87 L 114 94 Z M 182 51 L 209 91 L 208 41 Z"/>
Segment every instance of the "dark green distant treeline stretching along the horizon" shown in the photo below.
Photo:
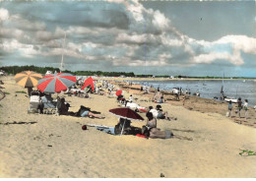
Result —
<path fill-rule="evenodd" d="M 47 71 L 51 71 L 52 73 L 60 72 L 59 68 L 53 67 L 36 67 L 36 66 L 7 66 L 7 67 L 0 67 L 0 70 L 5 71 L 8 75 L 16 75 L 17 73 L 23 71 L 33 71 L 39 74 L 45 74 Z M 100 77 L 135 77 L 135 78 L 170 78 L 168 75 L 162 76 L 154 76 L 154 75 L 135 75 L 133 72 L 101 72 L 101 71 L 62 71 L 63 73 L 71 73 L 77 76 L 100 76 Z M 173 76 L 173 78 L 184 78 L 184 79 L 223 79 L 223 77 L 213 77 L 213 76 L 205 76 L 205 77 L 195 77 L 195 76 Z M 224 79 L 230 79 L 225 77 Z M 232 79 L 255 79 L 255 78 L 244 78 L 244 77 L 232 77 Z"/>

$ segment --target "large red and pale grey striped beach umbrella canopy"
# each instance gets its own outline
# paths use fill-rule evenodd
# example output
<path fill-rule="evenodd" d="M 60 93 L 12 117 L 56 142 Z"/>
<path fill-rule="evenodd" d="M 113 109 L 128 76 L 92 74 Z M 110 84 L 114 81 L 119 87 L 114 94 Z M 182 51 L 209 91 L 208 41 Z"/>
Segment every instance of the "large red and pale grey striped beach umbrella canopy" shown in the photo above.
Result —
<path fill-rule="evenodd" d="M 37 89 L 42 92 L 54 93 L 66 91 L 76 83 L 76 77 L 68 73 L 57 73 L 43 77 L 38 81 Z"/>

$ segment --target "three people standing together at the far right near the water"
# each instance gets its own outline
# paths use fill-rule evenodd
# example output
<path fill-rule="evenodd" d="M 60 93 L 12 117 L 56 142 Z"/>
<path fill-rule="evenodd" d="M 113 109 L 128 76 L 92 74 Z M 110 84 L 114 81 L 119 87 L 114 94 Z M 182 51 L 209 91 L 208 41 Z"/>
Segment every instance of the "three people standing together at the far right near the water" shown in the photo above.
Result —
<path fill-rule="evenodd" d="M 231 117 L 233 109 L 233 103 L 231 100 L 228 102 L 228 112 L 227 112 L 227 117 Z M 237 113 L 239 118 L 241 118 L 241 110 L 244 109 L 244 117 L 247 119 L 247 114 L 248 114 L 248 99 L 244 99 L 244 102 L 242 103 L 241 97 L 237 99 Z"/>

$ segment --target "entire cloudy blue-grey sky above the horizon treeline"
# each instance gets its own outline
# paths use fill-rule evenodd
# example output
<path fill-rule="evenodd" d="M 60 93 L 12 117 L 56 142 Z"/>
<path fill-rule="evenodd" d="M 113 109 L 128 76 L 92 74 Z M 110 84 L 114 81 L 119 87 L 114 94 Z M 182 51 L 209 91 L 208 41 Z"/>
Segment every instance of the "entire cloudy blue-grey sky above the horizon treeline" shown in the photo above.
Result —
<path fill-rule="evenodd" d="M 71 71 L 256 77 L 255 1 L 0 1 L 0 67 L 62 54 Z"/>

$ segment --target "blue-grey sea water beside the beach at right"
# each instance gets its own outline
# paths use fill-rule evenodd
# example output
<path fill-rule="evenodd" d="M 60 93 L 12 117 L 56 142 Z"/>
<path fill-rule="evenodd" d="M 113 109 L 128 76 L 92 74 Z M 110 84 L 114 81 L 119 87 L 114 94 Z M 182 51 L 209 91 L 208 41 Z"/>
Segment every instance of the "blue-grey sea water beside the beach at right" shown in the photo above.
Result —
<path fill-rule="evenodd" d="M 160 91 L 172 91 L 173 88 L 182 88 L 183 91 L 190 90 L 191 94 L 199 91 L 201 97 L 221 97 L 221 89 L 224 86 L 224 96 L 230 98 L 241 97 L 242 101 L 248 99 L 250 106 L 256 105 L 256 82 L 254 80 L 166 80 L 166 81 L 133 81 L 135 84 L 153 86 Z"/>

